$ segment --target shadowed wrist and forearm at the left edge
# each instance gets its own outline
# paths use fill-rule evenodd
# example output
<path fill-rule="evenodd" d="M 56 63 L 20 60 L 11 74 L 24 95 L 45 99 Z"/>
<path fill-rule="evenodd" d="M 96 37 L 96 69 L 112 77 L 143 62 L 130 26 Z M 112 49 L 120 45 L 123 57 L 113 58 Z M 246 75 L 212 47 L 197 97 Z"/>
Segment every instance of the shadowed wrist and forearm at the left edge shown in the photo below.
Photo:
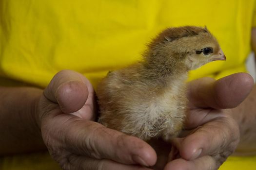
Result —
<path fill-rule="evenodd" d="M 0 88 L 0 155 L 45 148 L 36 123 L 35 108 L 41 93 L 41 89 L 33 87 Z"/>

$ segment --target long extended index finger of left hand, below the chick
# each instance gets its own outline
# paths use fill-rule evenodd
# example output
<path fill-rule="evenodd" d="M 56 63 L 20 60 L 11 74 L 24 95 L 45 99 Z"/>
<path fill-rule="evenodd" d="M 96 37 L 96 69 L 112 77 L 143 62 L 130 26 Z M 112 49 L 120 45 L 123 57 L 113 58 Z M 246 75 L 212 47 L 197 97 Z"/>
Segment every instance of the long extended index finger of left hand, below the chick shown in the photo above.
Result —
<path fill-rule="evenodd" d="M 67 117 L 64 114 L 62 118 L 59 116 L 56 121 L 64 124 L 55 129 L 59 129 L 58 134 L 65 134 L 61 140 L 66 141 L 71 153 L 112 159 L 124 164 L 153 166 L 156 163 L 156 152 L 143 140 L 108 129 L 94 121 Z M 52 123 L 57 126 L 55 120 Z"/>

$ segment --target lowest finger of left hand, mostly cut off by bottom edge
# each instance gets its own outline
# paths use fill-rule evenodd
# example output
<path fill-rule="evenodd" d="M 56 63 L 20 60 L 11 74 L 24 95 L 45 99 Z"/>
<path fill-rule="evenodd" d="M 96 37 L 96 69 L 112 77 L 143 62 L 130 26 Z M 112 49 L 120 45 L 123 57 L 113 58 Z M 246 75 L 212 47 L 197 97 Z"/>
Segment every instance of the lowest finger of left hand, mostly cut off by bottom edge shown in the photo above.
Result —
<path fill-rule="evenodd" d="M 93 159 L 85 156 L 70 155 L 68 170 L 151 170 L 136 165 L 125 165 L 108 159 Z M 65 169 L 64 167 L 62 167 Z"/>

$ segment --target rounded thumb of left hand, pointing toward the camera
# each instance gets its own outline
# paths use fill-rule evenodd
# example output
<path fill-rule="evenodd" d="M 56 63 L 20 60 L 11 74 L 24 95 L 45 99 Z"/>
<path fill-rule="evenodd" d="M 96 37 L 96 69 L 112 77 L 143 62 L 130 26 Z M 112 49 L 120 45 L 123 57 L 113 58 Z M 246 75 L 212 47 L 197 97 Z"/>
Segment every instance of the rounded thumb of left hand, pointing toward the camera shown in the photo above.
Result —
<path fill-rule="evenodd" d="M 93 90 L 82 74 L 62 70 L 53 77 L 43 94 L 48 101 L 58 103 L 63 113 L 73 113 L 85 104 L 89 95 L 88 86 Z"/>

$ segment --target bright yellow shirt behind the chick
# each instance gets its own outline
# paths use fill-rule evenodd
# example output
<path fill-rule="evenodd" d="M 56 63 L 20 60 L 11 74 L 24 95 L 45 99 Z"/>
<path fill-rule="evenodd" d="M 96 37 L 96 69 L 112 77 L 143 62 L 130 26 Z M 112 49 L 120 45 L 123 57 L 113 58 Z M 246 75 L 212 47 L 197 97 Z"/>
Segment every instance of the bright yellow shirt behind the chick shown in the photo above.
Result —
<path fill-rule="evenodd" d="M 161 30 L 184 25 L 207 26 L 227 56 L 191 71 L 190 80 L 244 72 L 255 7 L 255 0 L 0 0 L 0 76 L 46 86 L 73 69 L 96 87 L 108 70 L 138 61 Z M 4 170 L 21 170 L 22 161 L 15 168 L 9 159 Z M 230 158 L 221 170 L 246 165 L 256 169 L 256 157 Z"/>

